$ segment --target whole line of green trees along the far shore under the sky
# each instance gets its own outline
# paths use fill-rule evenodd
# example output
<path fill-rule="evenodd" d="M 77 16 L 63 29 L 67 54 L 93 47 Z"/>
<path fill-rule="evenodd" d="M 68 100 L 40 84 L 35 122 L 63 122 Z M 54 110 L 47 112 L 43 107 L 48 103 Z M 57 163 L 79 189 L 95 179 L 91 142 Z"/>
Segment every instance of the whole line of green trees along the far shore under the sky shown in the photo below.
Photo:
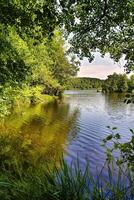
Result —
<path fill-rule="evenodd" d="M 90 77 L 73 77 L 66 89 L 101 89 L 103 92 L 132 92 L 134 90 L 134 75 L 113 73 L 106 80 Z"/>

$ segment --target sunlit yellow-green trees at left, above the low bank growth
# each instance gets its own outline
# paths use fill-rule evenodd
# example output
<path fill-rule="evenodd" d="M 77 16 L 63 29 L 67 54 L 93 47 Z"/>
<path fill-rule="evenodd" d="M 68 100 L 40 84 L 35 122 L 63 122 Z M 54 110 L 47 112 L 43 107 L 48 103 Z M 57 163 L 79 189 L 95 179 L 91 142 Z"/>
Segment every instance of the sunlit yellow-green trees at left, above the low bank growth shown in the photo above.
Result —
<path fill-rule="evenodd" d="M 70 64 L 65 56 L 64 40 L 58 31 L 55 31 L 51 41 L 44 38 L 42 42 L 35 45 L 34 39 L 26 35 L 25 39 L 22 39 L 15 28 L 8 29 L 7 33 L 3 29 L 3 32 L 1 31 L 3 41 L 0 82 L 2 85 L 22 84 L 22 81 L 29 82 L 32 74 L 37 78 L 37 76 L 45 76 L 45 73 L 49 74 L 49 78 L 45 76 L 46 80 L 50 80 L 51 77 L 63 84 L 67 77 L 76 73 L 77 68 Z"/>

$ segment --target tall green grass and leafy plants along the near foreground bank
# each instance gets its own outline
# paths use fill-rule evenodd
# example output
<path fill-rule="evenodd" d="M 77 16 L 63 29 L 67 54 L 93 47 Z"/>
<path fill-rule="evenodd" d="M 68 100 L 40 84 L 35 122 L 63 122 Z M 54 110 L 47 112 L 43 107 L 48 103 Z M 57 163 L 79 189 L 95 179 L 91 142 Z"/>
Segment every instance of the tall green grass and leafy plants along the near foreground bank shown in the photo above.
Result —
<path fill-rule="evenodd" d="M 115 130 L 113 128 L 112 130 Z M 132 134 L 134 133 L 131 130 Z M 51 159 L 41 158 L 38 164 L 36 157 L 26 159 L 27 153 L 31 155 L 30 143 L 22 146 L 20 140 L 11 136 L 0 136 L 0 198 L 3 200 L 133 200 L 133 151 L 132 140 L 121 144 L 118 133 L 108 136 L 104 140 L 105 146 L 110 140 L 114 140 L 113 147 L 106 147 L 107 161 L 101 172 L 96 176 L 90 174 L 87 162 L 85 169 L 81 171 L 79 161 L 70 166 L 60 158 L 53 162 Z M 11 140 L 14 145 L 11 145 Z M 23 137 L 21 138 L 23 140 Z M 19 151 L 16 151 L 15 148 Z M 18 148 L 20 147 L 20 148 Z M 10 153 L 8 151 L 13 150 Z M 30 151 L 29 151 L 29 150 Z M 119 150 L 120 156 L 114 162 L 112 153 Z M 14 153 L 13 153 L 14 152 Z M 13 153 L 13 154 L 12 154 Z M 44 160 L 44 162 L 42 162 Z M 34 161 L 34 162 L 33 162 Z M 124 168 L 127 164 L 127 170 Z M 116 164 L 116 165 L 115 165 Z M 103 177 L 103 170 L 108 171 L 108 178 Z M 116 182 L 115 180 L 116 174 Z"/>

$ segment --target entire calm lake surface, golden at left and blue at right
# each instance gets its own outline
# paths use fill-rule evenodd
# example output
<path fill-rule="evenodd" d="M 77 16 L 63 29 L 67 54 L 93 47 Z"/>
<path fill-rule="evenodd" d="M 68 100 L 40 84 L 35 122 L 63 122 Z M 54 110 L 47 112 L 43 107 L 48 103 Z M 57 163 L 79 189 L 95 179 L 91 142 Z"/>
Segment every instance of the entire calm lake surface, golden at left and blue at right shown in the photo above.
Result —
<path fill-rule="evenodd" d="M 134 104 L 123 101 L 124 94 L 71 90 L 62 101 L 14 109 L 0 124 L 3 134 L 10 133 L 5 154 L 34 166 L 58 162 L 64 155 L 68 164 L 78 159 L 83 169 L 88 160 L 95 174 L 105 162 L 101 144 L 111 133 L 107 126 L 118 127 L 122 141 L 134 129 Z"/>

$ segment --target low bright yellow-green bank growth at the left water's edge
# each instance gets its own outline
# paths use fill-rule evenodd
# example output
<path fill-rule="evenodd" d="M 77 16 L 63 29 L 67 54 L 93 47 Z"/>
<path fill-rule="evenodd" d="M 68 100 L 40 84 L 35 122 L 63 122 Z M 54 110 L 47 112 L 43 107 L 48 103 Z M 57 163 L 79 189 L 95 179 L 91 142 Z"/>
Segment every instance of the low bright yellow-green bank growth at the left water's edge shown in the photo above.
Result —
<path fill-rule="evenodd" d="M 24 108 L 38 103 L 49 103 L 58 97 L 44 94 L 42 86 L 27 86 L 22 88 L 5 87 L 0 91 L 0 118 L 10 115 L 12 109 L 23 111 Z"/>

